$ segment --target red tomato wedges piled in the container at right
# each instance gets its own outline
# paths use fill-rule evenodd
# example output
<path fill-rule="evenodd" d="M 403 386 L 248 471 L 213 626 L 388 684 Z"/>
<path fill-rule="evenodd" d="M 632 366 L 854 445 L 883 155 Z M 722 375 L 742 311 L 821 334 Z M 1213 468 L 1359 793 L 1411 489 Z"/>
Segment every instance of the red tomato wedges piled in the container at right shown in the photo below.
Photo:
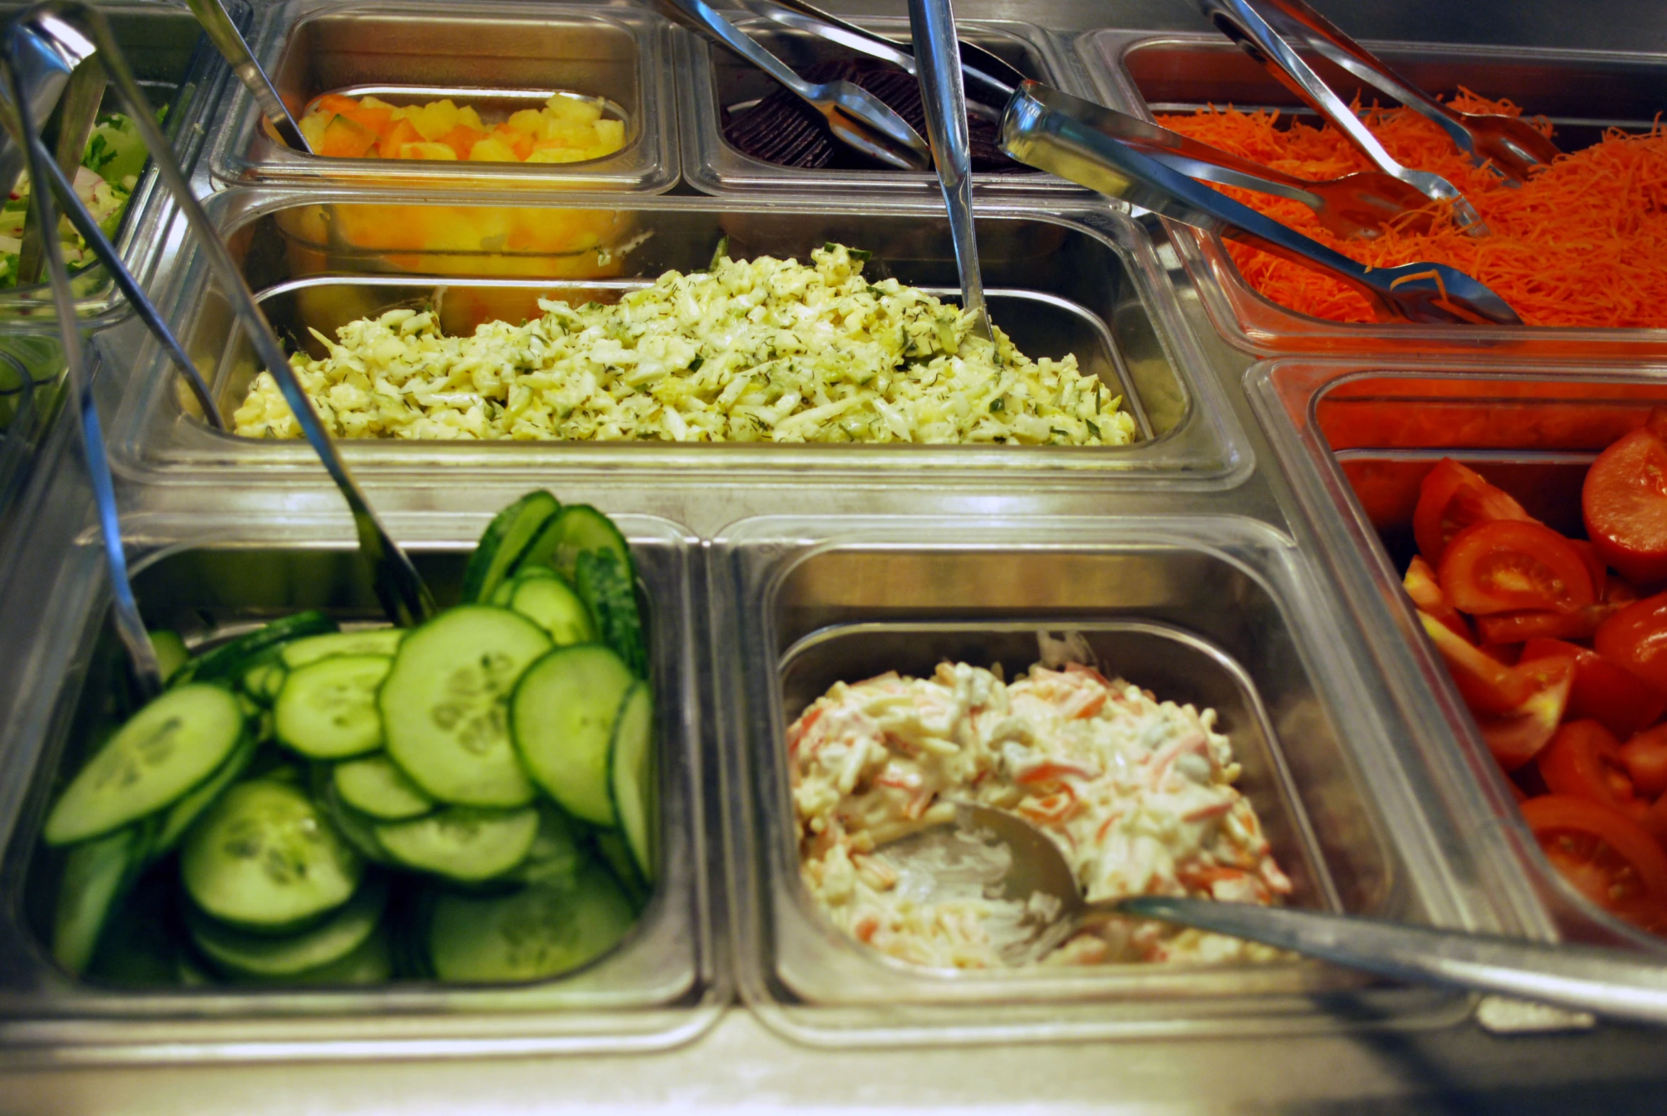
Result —
<path fill-rule="evenodd" d="M 1445 458 L 1405 590 L 1545 858 L 1667 934 L 1667 410 L 1592 463 L 1580 511 L 1569 538 Z"/>

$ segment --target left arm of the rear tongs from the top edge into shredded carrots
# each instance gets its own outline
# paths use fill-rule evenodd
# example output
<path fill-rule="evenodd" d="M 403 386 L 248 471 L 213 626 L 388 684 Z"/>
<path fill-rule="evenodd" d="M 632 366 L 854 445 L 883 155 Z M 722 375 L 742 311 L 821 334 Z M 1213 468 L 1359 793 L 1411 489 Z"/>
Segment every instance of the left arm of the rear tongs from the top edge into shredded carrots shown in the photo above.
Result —
<path fill-rule="evenodd" d="M 1459 193 L 1459 188 L 1434 172 L 1410 170 L 1397 163 L 1377 142 L 1377 137 L 1349 110 L 1349 105 L 1320 80 L 1320 75 L 1297 55 L 1279 32 L 1269 27 L 1267 20 L 1252 7 L 1252 0 L 1199 0 L 1199 8 L 1217 30 L 1239 43 L 1264 70 L 1279 78 L 1280 85 L 1349 137 L 1360 153 L 1372 160 L 1374 167 L 1385 175 L 1400 178 L 1427 198 L 1447 202 L 1452 207 L 1454 220 L 1470 235 L 1487 235 L 1482 217 Z"/>

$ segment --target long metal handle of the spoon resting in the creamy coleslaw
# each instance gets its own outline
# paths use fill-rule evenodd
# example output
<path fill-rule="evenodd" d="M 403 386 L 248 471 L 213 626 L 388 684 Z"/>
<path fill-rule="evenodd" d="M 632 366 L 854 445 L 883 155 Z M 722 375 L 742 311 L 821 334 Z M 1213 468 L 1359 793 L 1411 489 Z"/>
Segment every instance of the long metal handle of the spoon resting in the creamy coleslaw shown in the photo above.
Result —
<path fill-rule="evenodd" d="M 1139 896 L 1122 899 L 1119 909 L 1262 941 L 1400 981 L 1500 993 L 1615 1019 L 1667 1023 L 1667 966 L 1620 949 L 1214 899 Z"/>

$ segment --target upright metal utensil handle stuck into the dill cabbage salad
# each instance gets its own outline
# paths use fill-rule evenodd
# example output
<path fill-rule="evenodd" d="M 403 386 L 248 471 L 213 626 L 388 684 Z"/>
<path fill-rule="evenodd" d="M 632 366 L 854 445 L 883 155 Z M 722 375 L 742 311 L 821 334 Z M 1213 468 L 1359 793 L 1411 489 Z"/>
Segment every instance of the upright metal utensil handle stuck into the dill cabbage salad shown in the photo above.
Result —
<path fill-rule="evenodd" d="M 950 0 L 909 0 L 912 42 L 919 43 L 920 103 L 932 137 L 932 165 L 944 188 L 949 235 L 960 273 L 960 306 L 972 313 L 972 333 L 995 341 L 990 308 L 979 275 L 979 235 L 972 225 L 972 152 L 967 138 L 967 92 L 955 50 L 955 8 Z"/>

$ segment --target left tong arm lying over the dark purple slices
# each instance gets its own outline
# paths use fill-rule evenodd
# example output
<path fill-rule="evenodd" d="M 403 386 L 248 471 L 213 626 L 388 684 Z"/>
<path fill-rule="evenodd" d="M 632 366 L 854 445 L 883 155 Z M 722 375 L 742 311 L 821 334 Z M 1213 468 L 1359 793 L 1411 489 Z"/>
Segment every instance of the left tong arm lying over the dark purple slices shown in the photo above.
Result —
<path fill-rule="evenodd" d="M 869 158 L 900 170 L 925 170 L 932 152 L 909 122 L 892 112 L 879 97 L 850 82 L 807 82 L 785 62 L 772 55 L 705 0 L 665 0 L 685 22 L 723 43 L 742 58 L 797 93 L 800 100 L 827 117 L 834 137 Z"/>

